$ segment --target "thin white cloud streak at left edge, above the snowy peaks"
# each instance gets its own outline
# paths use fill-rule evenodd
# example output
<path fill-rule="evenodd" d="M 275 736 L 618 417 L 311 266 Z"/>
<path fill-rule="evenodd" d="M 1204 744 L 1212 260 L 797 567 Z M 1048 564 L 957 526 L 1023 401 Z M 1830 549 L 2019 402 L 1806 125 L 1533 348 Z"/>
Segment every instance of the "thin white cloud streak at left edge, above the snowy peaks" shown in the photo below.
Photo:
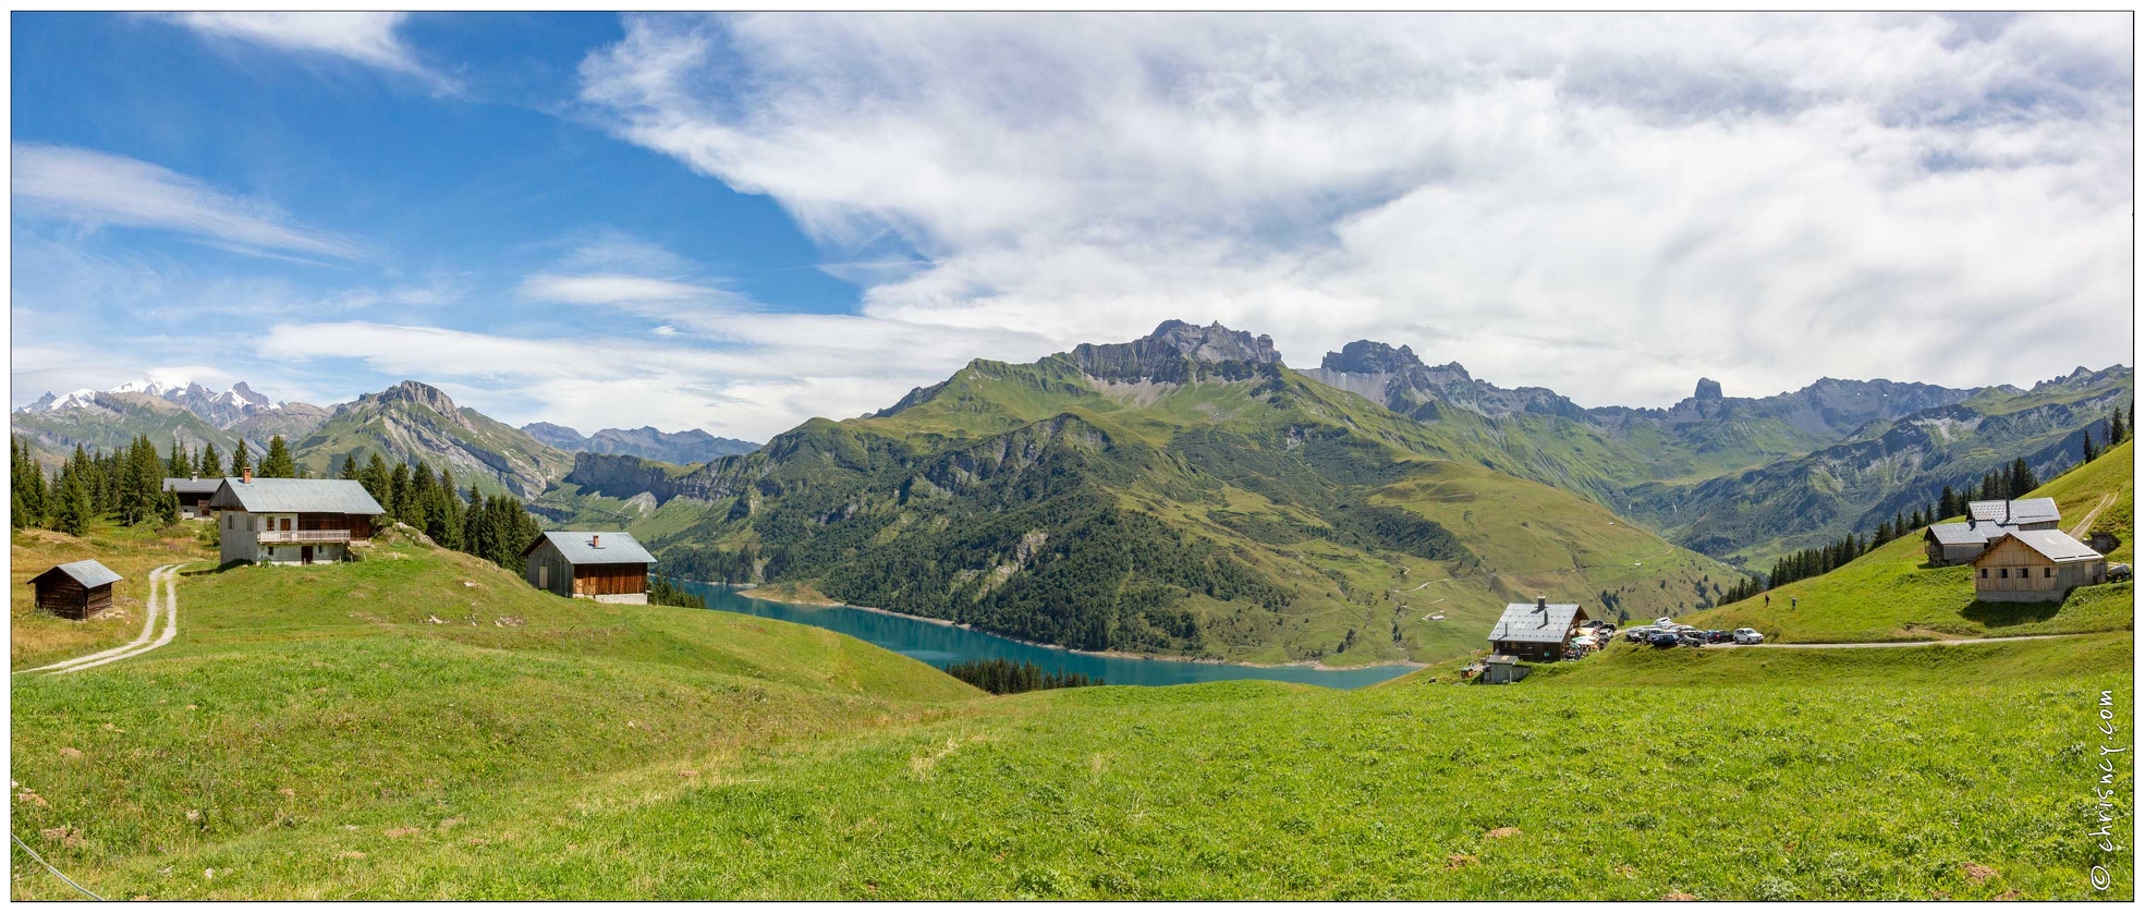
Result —
<path fill-rule="evenodd" d="M 270 204 L 139 159 L 73 146 L 15 144 L 13 204 L 17 216 L 180 231 L 242 253 L 358 255 L 354 242 L 296 225 Z"/>

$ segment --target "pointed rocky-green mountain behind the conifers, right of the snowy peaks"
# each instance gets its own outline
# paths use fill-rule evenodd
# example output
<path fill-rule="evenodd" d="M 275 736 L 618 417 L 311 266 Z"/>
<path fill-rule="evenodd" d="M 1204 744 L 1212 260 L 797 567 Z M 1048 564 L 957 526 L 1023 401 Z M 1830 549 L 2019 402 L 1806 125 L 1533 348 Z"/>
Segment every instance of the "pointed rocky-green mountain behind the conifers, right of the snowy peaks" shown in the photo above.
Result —
<path fill-rule="evenodd" d="M 378 452 L 388 465 L 425 461 L 453 469 L 457 484 L 538 497 L 573 467 L 573 457 L 526 431 L 457 407 L 438 388 L 401 381 L 369 392 L 292 446 L 298 465 L 315 476 L 341 469 L 345 457 Z"/>

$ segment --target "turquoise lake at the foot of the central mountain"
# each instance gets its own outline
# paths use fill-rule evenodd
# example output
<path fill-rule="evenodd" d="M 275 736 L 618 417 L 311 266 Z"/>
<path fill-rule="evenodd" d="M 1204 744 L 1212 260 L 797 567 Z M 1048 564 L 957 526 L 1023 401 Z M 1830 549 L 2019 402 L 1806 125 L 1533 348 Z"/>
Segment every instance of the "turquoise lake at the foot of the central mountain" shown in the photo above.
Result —
<path fill-rule="evenodd" d="M 1081 673 L 1100 677 L 1107 684 L 1171 686 L 1193 682 L 1227 679 L 1272 679 L 1302 682 L 1326 688 L 1362 688 L 1405 675 L 1411 667 L 1366 667 L 1321 671 L 1313 667 L 1238 667 L 1227 662 L 1184 662 L 1184 660 L 1137 660 L 1124 656 L 1088 656 L 1070 649 L 1036 647 L 985 634 L 980 630 L 931 624 L 905 615 L 886 615 L 847 607 L 802 607 L 792 602 L 768 602 L 744 596 L 738 589 L 716 583 L 680 581 L 680 587 L 708 600 L 708 609 L 759 615 L 781 622 L 809 624 L 813 628 L 839 630 L 858 641 L 892 649 L 901 656 L 944 667 L 965 660 L 1012 660 L 1034 662 L 1045 673 Z"/>

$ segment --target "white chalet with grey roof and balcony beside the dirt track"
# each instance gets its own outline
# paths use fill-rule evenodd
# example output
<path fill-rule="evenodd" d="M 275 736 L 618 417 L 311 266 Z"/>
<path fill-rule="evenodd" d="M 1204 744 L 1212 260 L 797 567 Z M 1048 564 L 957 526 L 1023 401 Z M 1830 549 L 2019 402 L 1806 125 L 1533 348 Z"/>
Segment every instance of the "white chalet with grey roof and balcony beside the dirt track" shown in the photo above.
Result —
<path fill-rule="evenodd" d="M 380 502 L 350 478 L 225 478 L 208 497 L 223 564 L 341 562 L 373 538 Z"/>

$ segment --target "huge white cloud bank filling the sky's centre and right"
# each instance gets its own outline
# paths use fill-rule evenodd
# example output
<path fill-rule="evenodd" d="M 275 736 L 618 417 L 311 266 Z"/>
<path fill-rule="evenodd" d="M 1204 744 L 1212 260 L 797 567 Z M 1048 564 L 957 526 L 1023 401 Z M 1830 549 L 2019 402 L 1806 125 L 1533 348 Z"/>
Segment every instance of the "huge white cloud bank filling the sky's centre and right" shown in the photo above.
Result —
<path fill-rule="evenodd" d="M 922 253 L 867 276 L 890 326 L 1221 319 L 1658 405 L 2126 360 L 2130 51 L 2104 15 L 646 15 L 581 77 L 830 253 Z"/>

